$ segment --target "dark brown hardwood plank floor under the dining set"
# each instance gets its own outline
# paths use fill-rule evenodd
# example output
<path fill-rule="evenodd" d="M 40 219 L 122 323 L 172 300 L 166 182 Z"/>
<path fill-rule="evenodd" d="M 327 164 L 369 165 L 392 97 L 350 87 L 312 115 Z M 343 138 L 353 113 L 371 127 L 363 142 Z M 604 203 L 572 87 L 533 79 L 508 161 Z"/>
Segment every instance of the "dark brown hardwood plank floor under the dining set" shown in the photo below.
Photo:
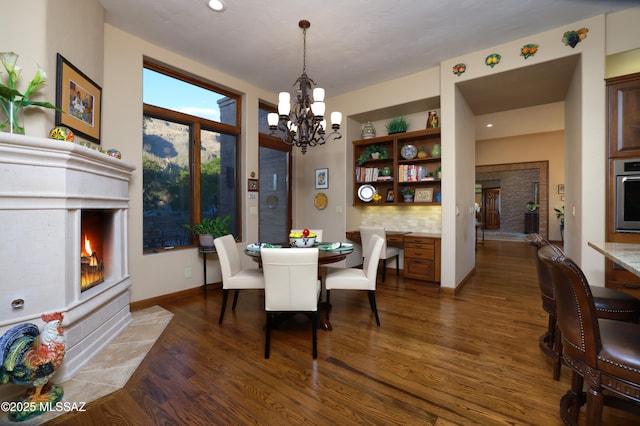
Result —
<path fill-rule="evenodd" d="M 176 300 L 124 389 L 47 424 L 560 425 L 570 371 L 552 380 L 538 348 L 547 316 L 532 256 L 523 242 L 486 241 L 456 297 L 387 273 L 380 327 L 365 292 L 333 291 L 317 361 L 304 316 L 273 331 L 264 359 L 260 291 L 242 292 L 222 325 L 219 290 Z M 604 424 L 634 423 L 605 408 Z"/>

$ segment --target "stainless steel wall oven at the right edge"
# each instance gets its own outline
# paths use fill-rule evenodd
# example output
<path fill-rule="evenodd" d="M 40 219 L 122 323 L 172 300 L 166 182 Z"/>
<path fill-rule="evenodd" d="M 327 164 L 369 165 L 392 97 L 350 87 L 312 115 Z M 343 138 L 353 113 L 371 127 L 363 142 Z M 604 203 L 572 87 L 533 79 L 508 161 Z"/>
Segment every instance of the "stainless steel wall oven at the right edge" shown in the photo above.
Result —
<path fill-rule="evenodd" d="M 615 160 L 616 232 L 640 232 L 640 158 Z"/>

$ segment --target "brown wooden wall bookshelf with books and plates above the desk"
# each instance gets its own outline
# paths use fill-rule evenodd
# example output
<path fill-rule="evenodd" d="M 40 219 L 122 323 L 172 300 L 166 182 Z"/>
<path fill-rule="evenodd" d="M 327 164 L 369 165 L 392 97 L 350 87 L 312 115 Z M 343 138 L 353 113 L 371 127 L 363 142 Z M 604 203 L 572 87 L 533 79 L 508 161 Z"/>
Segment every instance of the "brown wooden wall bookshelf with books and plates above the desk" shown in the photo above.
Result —
<path fill-rule="evenodd" d="M 427 154 L 426 157 L 418 158 L 416 155 L 412 159 L 405 158 L 406 152 L 411 151 L 405 148 L 409 145 L 415 147 L 416 151 L 423 150 Z M 404 203 L 400 191 L 405 187 L 414 191 L 416 189 L 426 190 L 420 191 L 426 196 L 421 200 L 416 200 L 416 203 L 439 205 L 440 202 L 436 199 L 441 190 L 438 171 L 441 170 L 442 163 L 440 154 L 432 155 L 435 145 L 440 148 L 440 128 L 353 141 L 353 205 L 402 205 Z M 378 159 L 367 156 L 366 160 L 360 164 L 360 157 L 366 154 L 367 149 L 372 146 L 383 148 L 387 155 L 382 155 L 382 158 Z M 403 156 L 403 152 L 405 156 Z M 383 174 L 385 167 L 390 172 L 388 176 Z M 379 203 L 370 200 L 369 197 L 364 197 L 363 200 L 363 197 L 359 196 L 363 185 L 372 186 L 373 190 L 380 194 L 382 199 Z M 365 195 L 370 192 L 370 189 L 363 191 Z"/>

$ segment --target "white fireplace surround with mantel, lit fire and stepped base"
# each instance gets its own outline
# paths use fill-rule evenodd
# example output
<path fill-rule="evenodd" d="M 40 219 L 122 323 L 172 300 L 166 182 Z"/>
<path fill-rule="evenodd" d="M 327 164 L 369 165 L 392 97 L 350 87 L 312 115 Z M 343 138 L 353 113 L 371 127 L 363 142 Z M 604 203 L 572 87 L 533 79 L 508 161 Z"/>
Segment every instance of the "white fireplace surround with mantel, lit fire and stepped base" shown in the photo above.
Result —
<path fill-rule="evenodd" d="M 78 144 L 0 133 L 0 335 L 24 322 L 42 328 L 41 314 L 62 312 L 66 355 L 56 382 L 131 322 L 134 169 Z"/>

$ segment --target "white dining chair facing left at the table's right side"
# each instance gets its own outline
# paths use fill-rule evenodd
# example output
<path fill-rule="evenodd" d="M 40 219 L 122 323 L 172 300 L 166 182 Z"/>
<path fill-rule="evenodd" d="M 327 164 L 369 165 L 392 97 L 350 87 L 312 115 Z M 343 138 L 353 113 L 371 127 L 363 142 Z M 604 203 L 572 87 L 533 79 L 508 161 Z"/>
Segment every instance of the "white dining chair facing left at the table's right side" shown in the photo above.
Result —
<path fill-rule="evenodd" d="M 362 269 L 327 268 L 324 281 L 327 290 L 327 319 L 329 319 L 329 311 L 331 311 L 331 290 L 366 290 L 371 311 L 376 317 L 376 324 L 380 326 L 380 317 L 376 306 L 376 277 L 383 244 L 384 238 L 379 235 L 371 236 L 364 254 Z"/>

